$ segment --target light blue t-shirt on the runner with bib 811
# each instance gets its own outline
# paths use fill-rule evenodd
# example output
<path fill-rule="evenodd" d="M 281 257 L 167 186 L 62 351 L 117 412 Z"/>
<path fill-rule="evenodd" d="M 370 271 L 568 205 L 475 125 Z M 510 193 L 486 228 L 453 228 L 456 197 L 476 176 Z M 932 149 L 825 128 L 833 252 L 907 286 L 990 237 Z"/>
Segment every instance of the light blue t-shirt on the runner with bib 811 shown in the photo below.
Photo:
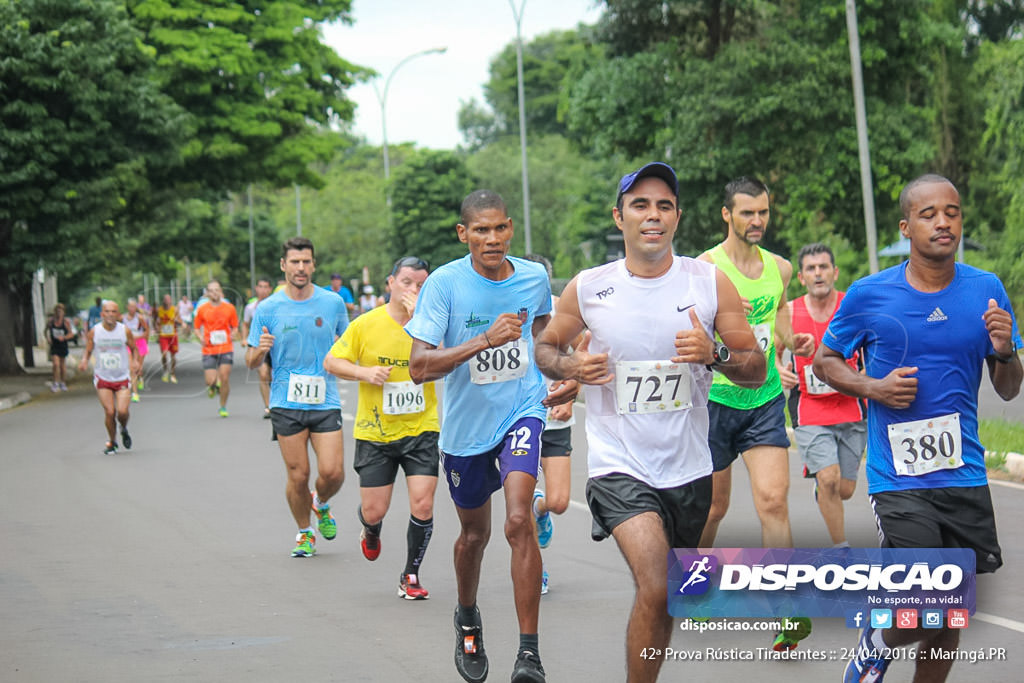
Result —
<path fill-rule="evenodd" d="M 334 345 L 335 338 L 340 337 L 348 327 L 348 310 L 342 298 L 334 292 L 313 287 L 310 298 L 294 301 L 286 290 L 281 290 L 260 301 L 256 307 L 247 340 L 250 346 L 259 346 L 264 327 L 273 335 L 270 408 L 296 411 L 340 409 L 338 384 L 324 370 L 324 358 Z M 324 393 L 317 393 L 319 390 Z"/>

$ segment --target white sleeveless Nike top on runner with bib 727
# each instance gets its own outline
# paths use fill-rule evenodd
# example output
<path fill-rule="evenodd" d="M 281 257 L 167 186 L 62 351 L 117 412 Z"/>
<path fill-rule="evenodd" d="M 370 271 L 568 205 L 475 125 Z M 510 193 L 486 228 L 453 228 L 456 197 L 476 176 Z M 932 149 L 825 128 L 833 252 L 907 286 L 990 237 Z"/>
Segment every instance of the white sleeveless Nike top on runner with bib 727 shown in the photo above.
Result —
<path fill-rule="evenodd" d="M 592 353 L 607 353 L 615 379 L 585 386 L 590 476 L 629 474 L 656 488 L 671 488 L 711 474 L 708 446 L 708 392 L 712 373 L 683 364 L 673 371 L 630 370 L 616 362 L 663 361 L 676 355 L 675 338 L 690 330 L 689 309 L 714 338 L 718 312 L 715 266 L 685 256 L 659 278 L 634 278 L 618 260 L 584 270 L 578 280 L 580 311 L 593 338 Z M 688 372 L 687 372 L 688 371 Z M 659 375 L 662 373 L 662 375 Z M 627 380 L 632 377 L 632 382 Z M 681 379 L 677 379 L 682 375 Z M 692 407 L 631 413 L 637 405 L 672 405 L 688 386 Z M 663 399 L 666 399 L 663 402 Z M 644 402 L 646 401 L 646 402 Z M 653 410 L 653 409 L 652 409 Z"/>

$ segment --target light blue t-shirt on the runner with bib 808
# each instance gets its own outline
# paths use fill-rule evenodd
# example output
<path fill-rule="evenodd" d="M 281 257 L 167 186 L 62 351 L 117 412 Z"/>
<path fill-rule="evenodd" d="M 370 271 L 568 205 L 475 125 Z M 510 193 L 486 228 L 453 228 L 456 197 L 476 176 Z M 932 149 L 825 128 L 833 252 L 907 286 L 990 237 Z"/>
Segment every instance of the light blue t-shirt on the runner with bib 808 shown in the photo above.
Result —
<path fill-rule="evenodd" d="M 544 378 L 534 361 L 534 318 L 551 312 L 551 286 L 544 266 L 508 257 L 515 268 L 494 282 L 473 269 L 470 256 L 442 265 L 423 285 L 416 314 L 406 325 L 415 339 L 454 347 L 483 334 L 502 313 L 526 311 L 522 339 L 511 346 L 486 349 L 444 377 L 440 449 L 450 456 L 486 453 L 522 418 L 544 420 L 547 395 Z M 525 374 L 508 381 L 487 381 L 496 371 L 525 364 Z M 471 366 L 473 372 L 471 373 Z M 477 381 L 485 383 L 474 383 Z"/>

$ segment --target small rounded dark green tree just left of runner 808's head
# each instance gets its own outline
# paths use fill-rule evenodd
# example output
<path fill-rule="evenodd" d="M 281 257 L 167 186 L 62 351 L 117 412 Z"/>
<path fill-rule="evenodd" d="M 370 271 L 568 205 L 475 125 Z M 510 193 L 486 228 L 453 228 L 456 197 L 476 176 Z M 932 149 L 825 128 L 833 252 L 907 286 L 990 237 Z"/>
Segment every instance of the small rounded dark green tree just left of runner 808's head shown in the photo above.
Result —
<path fill-rule="evenodd" d="M 436 267 L 465 256 L 455 226 L 462 201 L 477 188 L 465 162 L 451 152 L 417 152 L 392 180 L 393 257 L 413 254 Z"/>

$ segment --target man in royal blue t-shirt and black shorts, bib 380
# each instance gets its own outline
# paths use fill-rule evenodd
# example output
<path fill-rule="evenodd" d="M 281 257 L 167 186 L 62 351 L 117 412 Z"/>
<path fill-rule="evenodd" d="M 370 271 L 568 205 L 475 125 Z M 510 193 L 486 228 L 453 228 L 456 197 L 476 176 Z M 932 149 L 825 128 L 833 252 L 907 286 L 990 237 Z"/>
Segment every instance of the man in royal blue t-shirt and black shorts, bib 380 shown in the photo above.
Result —
<path fill-rule="evenodd" d="M 1001 564 L 978 386 L 988 370 L 1005 400 L 1020 391 L 1021 336 L 998 278 L 956 262 L 959 193 L 924 175 L 900 194 L 904 263 L 855 282 L 814 358 L 814 374 L 867 399 L 867 493 L 883 548 L 970 548 L 978 572 Z M 864 349 L 865 373 L 845 361 Z M 914 680 L 944 681 L 959 631 L 865 629 L 844 680 L 881 682 L 893 647 L 919 643 Z"/>

